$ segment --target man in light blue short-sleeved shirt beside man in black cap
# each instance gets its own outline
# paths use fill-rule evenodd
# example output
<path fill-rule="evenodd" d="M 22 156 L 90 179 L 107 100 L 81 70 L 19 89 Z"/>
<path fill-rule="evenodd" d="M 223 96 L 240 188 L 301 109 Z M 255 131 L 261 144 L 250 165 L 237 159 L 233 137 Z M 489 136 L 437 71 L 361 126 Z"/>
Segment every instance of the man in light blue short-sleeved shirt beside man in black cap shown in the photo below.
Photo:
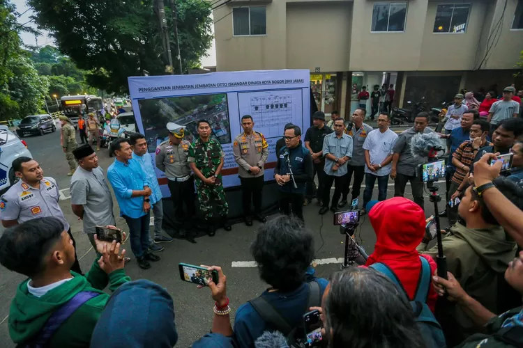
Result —
<path fill-rule="evenodd" d="M 323 207 L 319 214 L 323 215 L 328 210 L 328 202 L 331 196 L 331 187 L 335 183 L 331 212 L 338 209 L 338 201 L 342 195 L 342 187 L 345 184 L 343 177 L 347 174 L 347 161 L 352 157 L 352 137 L 345 134 L 345 122 L 341 118 L 334 121 L 334 132 L 324 138 L 323 156 L 325 157 L 325 187 L 321 201 Z M 348 183 L 347 183 L 348 184 Z"/>

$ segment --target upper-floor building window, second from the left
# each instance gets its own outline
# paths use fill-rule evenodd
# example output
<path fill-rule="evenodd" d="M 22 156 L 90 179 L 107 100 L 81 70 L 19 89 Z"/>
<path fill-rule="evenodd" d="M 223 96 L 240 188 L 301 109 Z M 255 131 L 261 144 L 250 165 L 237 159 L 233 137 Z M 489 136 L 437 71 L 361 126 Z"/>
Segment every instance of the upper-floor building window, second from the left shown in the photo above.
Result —
<path fill-rule="evenodd" d="M 404 31 L 406 2 L 376 2 L 372 9 L 372 31 Z"/>

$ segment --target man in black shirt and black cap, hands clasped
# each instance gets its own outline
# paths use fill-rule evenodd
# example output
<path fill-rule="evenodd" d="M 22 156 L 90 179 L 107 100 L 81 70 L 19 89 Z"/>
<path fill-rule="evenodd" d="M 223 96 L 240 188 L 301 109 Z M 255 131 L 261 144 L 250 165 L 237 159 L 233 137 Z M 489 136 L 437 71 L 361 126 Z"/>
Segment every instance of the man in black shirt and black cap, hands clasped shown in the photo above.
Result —
<path fill-rule="evenodd" d="M 312 156 L 312 166 L 314 171 L 312 173 L 312 180 L 307 184 L 305 203 L 303 203 L 303 205 L 308 205 L 314 196 L 318 198 L 318 202 L 321 204 L 325 182 L 325 159 L 323 156 L 324 138 L 327 134 L 333 132 L 331 128 L 325 125 L 325 114 L 321 111 L 316 111 L 314 115 L 312 115 L 312 124 L 313 126 L 307 129 L 307 132 L 305 133 L 305 148 L 310 151 L 310 155 Z M 318 174 L 317 190 L 316 184 L 314 184 L 314 176 L 316 173 Z"/>

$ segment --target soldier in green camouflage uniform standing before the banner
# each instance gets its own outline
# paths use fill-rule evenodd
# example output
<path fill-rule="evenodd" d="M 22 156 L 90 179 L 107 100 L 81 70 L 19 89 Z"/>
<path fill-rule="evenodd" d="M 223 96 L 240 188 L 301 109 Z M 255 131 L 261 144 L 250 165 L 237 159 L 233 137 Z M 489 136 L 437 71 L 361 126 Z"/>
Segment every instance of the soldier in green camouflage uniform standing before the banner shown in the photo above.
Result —
<path fill-rule="evenodd" d="M 214 235 L 213 203 L 218 209 L 221 216 L 223 228 L 231 230 L 227 222 L 227 213 L 229 205 L 225 200 L 225 191 L 223 191 L 222 175 L 220 172 L 223 167 L 222 146 L 216 140 L 211 138 L 211 125 L 206 120 L 199 120 L 197 126 L 199 138 L 196 139 L 189 147 L 189 166 L 196 175 L 196 189 L 198 193 L 199 207 L 204 214 L 204 218 L 209 227 L 209 235 Z"/>

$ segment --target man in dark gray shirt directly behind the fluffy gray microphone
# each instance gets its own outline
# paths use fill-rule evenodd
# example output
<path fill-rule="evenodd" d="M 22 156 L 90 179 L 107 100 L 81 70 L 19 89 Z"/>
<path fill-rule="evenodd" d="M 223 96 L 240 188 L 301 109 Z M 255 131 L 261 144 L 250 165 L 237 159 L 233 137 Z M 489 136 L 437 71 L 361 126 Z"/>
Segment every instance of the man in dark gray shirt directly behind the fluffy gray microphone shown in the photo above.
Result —
<path fill-rule="evenodd" d="M 414 127 L 407 129 L 397 138 L 393 148 L 391 178 L 394 180 L 394 196 L 403 197 L 407 182 L 411 183 L 414 202 L 425 209 L 423 202 L 423 182 L 419 179 L 417 169 L 419 164 L 427 162 L 426 157 L 414 156 L 411 152 L 412 137 L 416 134 L 432 133 L 428 128 L 429 114 L 420 112 L 414 118 Z"/>

